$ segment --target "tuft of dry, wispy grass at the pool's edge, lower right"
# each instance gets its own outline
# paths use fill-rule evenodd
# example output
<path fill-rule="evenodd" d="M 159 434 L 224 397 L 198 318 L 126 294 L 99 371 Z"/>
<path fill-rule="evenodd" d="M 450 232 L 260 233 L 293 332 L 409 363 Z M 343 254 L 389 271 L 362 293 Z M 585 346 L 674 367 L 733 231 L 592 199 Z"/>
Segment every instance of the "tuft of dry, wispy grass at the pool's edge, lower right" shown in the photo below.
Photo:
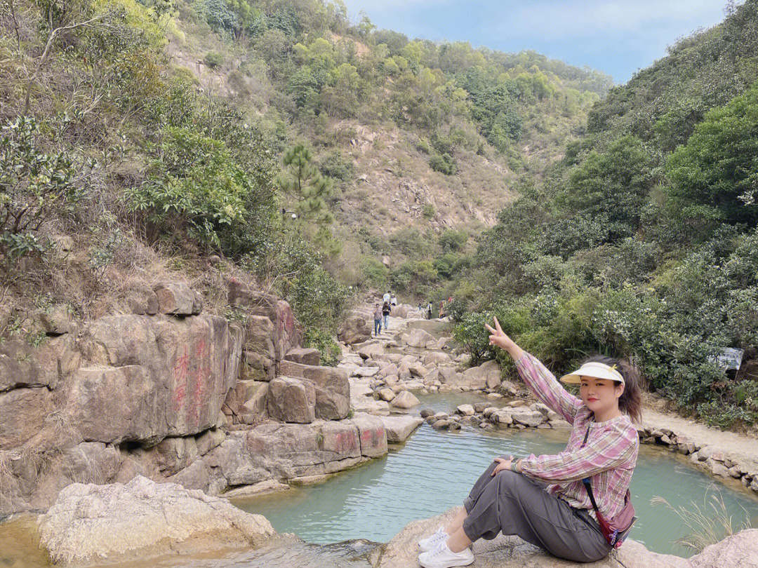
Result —
<path fill-rule="evenodd" d="M 718 495 L 712 492 L 713 489 L 715 489 Z M 697 552 L 743 529 L 752 528 L 750 525 L 750 513 L 741 505 L 740 507 L 745 513 L 745 520 L 735 528 L 733 516 L 726 510 L 721 489 L 716 488 L 713 484 L 709 485 L 706 489 L 706 493 L 703 495 L 702 506 L 691 501 L 691 508 L 672 507 L 669 501 L 658 496 L 653 497 L 650 500 L 650 504 L 653 507 L 663 504 L 679 517 L 679 520 L 684 523 L 689 532 L 687 535 L 678 538 L 675 543 L 681 545 L 683 548 Z"/>

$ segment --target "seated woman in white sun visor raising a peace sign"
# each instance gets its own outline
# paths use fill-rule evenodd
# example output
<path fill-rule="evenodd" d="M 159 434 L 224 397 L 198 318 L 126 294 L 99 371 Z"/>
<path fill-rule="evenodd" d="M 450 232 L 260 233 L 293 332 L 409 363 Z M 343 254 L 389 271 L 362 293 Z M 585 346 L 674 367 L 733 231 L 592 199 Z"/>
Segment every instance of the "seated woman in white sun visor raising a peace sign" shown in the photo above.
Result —
<path fill-rule="evenodd" d="M 515 361 L 529 390 L 572 424 L 564 451 L 521 459 L 496 457 L 449 525 L 419 541 L 424 568 L 468 566 L 478 538 L 518 535 L 550 554 L 594 562 L 619 548 L 634 523 L 628 487 L 640 440 L 641 398 L 634 368 L 611 357 L 590 357 L 563 382 L 513 342 L 494 319 L 490 345 Z M 547 485 L 549 484 L 549 485 Z M 547 485 L 547 487 L 545 486 Z"/>

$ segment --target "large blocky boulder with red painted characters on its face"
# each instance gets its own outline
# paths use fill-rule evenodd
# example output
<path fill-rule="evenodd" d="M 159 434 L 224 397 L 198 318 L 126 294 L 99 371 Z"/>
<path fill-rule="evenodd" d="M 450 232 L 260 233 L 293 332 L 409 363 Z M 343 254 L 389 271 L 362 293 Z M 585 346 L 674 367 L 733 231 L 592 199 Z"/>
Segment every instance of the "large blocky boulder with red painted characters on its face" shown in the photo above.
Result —
<path fill-rule="evenodd" d="M 236 381 L 242 329 L 223 317 L 102 317 L 89 326 L 91 362 L 67 385 L 64 414 L 95 442 L 159 442 L 215 427 Z"/>

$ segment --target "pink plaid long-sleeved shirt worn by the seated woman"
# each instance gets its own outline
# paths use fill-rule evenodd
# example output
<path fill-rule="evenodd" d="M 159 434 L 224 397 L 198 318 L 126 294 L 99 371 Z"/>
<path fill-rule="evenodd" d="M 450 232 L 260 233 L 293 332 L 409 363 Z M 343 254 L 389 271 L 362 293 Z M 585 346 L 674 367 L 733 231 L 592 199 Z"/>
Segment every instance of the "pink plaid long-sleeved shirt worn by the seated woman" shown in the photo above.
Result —
<path fill-rule="evenodd" d="M 593 422 L 591 411 L 581 398 L 569 394 L 558 379 L 531 354 L 516 361 L 518 374 L 529 390 L 544 404 L 572 424 L 571 437 L 564 451 L 556 455 L 529 457 L 519 462 L 522 473 L 539 481 L 552 482 L 547 492 L 567 501 L 572 507 L 589 509 L 595 517 L 581 480 L 590 478 L 597 507 L 610 520 L 624 507 L 624 496 L 637 463 L 640 438 L 626 414 L 606 422 Z M 581 447 L 587 427 L 587 445 Z"/>

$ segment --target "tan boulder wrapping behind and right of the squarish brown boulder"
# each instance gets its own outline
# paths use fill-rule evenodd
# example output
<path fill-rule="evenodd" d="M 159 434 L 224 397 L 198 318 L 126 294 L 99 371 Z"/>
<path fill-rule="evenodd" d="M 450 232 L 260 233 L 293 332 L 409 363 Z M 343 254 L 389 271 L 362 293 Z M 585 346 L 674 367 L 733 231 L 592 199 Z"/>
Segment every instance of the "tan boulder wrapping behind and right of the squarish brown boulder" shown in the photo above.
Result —
<path fill-rule="evenodd" d="M 347 373 L 337 367 L 317 367 L 283 361 L 280 372 L 311 382 L 316 391 L 316 417 L 342 420 L 350 411 L 350 382 Z"/>

